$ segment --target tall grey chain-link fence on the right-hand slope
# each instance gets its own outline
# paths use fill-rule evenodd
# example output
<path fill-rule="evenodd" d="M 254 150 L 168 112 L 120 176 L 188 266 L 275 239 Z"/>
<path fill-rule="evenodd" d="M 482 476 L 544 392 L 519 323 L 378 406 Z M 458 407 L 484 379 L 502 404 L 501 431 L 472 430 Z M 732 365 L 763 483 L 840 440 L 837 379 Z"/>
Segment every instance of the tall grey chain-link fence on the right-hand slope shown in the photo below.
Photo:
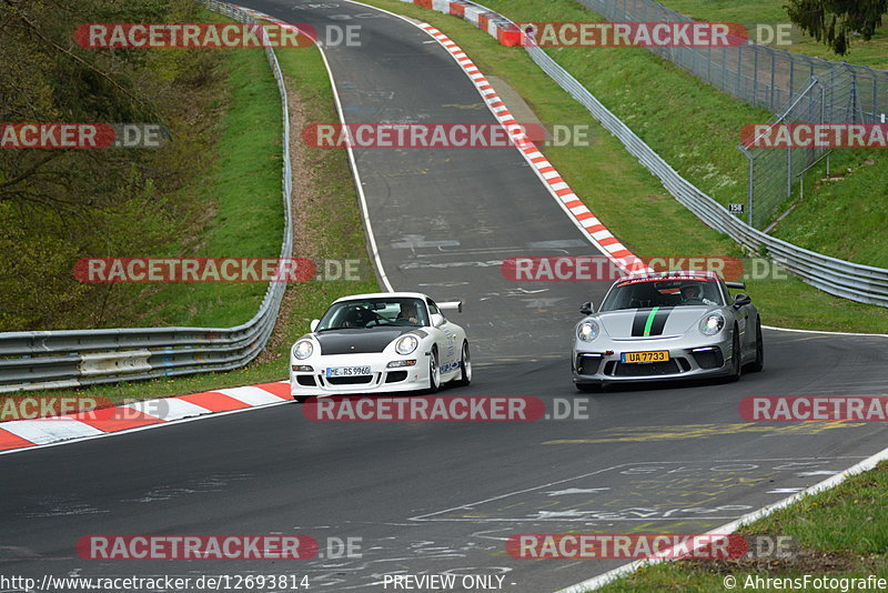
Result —
<path fill-rule="evenodd" d="M 654 0 L 579 1 L 614 22 L 694 20 Z M 753 42 L 725 48 L 649 49 L 717 89 L 778 113 L 774 121 L 880 123 L 888 117 L 888 71 L 830 62 Z M 813 91 L 813 80 L 819 82 L 821 92 Z M 819 104 L 809 109 L 809 103 Z M 806 119 L 809 115 L 814 119 Z M 763 150 L 771 154 L 757 152 L 753 158 L 744 151 L 750 159 L 747 219 L 757 229 L 767 228 L 794 195 L 800 195 L 803 175 L 816 161 L 811 160 L 810 149 Z M 798 188 L 794 190 L 787 180 L 798 181 Z"/>

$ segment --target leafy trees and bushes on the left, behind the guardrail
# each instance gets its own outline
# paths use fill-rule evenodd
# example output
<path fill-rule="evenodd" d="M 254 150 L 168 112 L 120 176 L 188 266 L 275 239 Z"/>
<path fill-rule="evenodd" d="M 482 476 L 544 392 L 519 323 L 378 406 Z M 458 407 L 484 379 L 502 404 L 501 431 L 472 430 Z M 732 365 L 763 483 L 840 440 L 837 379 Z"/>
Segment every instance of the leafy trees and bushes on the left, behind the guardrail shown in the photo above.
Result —
<path fill-rule="evenodd" d="M 201 205 L 178 192 L 205 170 L 214 120 L 195 99 L 214 88 L 221 52 L 85 49 L 73 33 L 89 22 L 194 22 L 196 11 L 194 0 L 0 0 L 0 123 L 160 123 L 173 139 L 0 150 L 0 331 L 104 323 L 109 289 L 77 282 L 74 262 L 159 253 L 188 233 Z M 111 301 L 134 298 L 129 290 Z"/>

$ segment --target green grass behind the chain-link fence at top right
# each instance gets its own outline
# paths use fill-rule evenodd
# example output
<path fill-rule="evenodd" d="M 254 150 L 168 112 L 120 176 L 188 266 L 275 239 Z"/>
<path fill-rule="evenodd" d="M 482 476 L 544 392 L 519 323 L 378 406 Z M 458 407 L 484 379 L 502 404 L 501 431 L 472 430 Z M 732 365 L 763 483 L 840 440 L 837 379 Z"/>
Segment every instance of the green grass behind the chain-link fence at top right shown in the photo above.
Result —
<path fill-rule="evenodd" d="M 784 2 L 774 0 L 663 0 L 660 2 L 683 14 L 702 21 L 741 22 L 749 33 L 755 34 L 755 23 L 790 23 L 784 9 Z M 886 19 L 882 19 L 885 22 Z M 838 56 L 827 46 L 801 32 L 794 26 L 789 46 L 774 46 L 795 53 L 807 53 L 834 62 L 847 61 L 868 66 L 876 70 L 888 70 L 888 23 L 876 30 L 872 39 L 865 41 L 860 37 L 851 37 L 850 51 Z"/>

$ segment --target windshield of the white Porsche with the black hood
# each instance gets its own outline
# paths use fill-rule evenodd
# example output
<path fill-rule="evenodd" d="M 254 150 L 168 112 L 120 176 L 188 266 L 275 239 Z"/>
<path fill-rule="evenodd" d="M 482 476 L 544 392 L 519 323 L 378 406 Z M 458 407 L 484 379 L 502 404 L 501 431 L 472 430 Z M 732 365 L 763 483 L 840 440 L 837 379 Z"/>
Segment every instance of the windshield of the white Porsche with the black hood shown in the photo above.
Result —
<path fill-rule="evenodd" d="M 428 314 L 420 299 L 379 298 L 334 303 L 315 331 L 424 325 Z"/>

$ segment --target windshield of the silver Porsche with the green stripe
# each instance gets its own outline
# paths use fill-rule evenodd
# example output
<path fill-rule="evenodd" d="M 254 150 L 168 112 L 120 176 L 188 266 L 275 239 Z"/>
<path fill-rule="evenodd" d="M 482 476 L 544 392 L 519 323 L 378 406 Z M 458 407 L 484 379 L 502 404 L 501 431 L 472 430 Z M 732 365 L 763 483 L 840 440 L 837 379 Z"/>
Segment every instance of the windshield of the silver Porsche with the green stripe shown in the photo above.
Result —
<path fill-rule="evenodd" d="M 601 310 L 715 304 L 725 304 L 716 281 L 697 278 L 638 279 L 618 282 L 605 296 Z"/>

